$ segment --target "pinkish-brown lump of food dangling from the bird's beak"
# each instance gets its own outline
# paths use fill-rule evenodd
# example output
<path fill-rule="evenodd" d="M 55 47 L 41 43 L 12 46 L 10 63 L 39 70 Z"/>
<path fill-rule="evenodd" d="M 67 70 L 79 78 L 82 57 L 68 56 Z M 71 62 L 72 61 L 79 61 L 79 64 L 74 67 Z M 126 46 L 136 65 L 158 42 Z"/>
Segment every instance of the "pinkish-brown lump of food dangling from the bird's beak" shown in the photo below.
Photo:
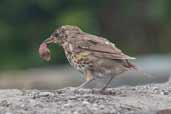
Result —
<path fill-rule="evenodd" d="M 44 42 L 39 47 L 39 55 L 42 59 L 44 59 L 46 61 L 50 61 L 50 59 L 51 59 L 51 52 L 50 52 L 47 44 Z"/>

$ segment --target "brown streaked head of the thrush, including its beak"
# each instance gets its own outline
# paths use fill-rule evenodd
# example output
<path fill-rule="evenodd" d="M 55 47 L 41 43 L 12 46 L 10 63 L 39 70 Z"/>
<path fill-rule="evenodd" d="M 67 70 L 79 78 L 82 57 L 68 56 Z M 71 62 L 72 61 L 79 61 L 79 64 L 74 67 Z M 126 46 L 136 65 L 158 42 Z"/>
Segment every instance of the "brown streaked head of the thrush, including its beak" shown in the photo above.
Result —
<path fill-rule="evenodd" d="M 65 25 L 56 29 L 49 38 L 44 42 L 46 44 L 59 43 L 62 44 L 67 41 L 73 35 L 80 33 L 81 29 L 77 26 Z"/>

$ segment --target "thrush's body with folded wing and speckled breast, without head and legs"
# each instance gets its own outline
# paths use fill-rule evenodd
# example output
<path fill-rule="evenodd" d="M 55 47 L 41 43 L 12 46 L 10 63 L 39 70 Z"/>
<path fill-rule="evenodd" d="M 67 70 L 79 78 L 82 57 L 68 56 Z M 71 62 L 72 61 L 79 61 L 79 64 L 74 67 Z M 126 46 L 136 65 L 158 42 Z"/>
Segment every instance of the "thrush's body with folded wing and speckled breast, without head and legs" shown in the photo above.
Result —
<path fill-rule="evenodd" d="M 118 74 L 128 70 L 128 59 L 134 59 L 102 37 L 80 33 L 68 39 L 68 49 L 65 49 L 67 59 L 81 72 L 88 69 L 99 74 Z"/>

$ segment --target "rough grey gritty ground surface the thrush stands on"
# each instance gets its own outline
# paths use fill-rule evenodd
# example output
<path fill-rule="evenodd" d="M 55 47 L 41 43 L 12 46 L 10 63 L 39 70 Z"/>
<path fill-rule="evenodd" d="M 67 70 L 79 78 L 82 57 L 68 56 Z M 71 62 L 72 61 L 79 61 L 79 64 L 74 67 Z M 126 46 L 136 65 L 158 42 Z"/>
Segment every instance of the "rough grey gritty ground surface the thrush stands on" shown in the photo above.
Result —
<path fill-rule="evenodd" d="M 171 114 L 171 84 L 60 90 L 0 90 L 0 114 Z M 168 112 L 168 111 L 167 111 Z"/>

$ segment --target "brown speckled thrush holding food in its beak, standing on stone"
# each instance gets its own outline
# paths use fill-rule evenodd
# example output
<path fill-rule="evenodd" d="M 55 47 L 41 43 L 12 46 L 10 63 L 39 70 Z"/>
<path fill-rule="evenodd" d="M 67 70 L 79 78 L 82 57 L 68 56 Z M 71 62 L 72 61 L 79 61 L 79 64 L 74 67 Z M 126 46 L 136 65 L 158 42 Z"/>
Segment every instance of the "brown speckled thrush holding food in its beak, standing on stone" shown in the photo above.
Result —
<path fill-rule="evenodd" d="M 105 90 L 113 78 L 136 66 L 130 62 L 135 59 L 122 52 L 106 38 L 82 31 L 77 26 L 63 25 L 57 28 L 39 48 L 40 56 L 50 60 L 49 44 L 63 47 L 65 56 L 71 66 L 80 71 L 86 81 L 79 88 L 84 88 L 97 78 L 108 78 L 101 88 Z"/>

